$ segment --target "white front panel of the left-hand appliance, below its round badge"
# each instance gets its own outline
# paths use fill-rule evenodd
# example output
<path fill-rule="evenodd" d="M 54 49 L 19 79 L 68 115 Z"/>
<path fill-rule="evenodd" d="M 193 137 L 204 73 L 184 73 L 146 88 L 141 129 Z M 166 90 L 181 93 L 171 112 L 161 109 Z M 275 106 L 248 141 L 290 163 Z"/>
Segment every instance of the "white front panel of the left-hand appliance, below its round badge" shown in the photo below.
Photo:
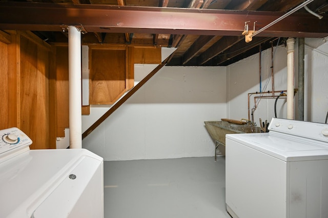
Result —
<path fill-rule="evenodd" d="M 104 217 L 103 161 L 89 156 L 34 211 L 33 218 Z"/>

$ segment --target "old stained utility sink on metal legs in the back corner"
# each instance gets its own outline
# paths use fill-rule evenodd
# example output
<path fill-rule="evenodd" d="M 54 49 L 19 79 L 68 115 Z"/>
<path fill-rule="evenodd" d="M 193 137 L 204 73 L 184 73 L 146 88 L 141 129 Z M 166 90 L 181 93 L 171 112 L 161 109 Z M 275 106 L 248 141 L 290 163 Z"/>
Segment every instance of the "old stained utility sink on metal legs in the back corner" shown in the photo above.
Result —
<path fill-rule="evenodd" d="M 226 134 L 236 133 L 260 133 L 260 128 L 254 125 L 238 125 L 232 124 L 227 121 L 205 121 L 204 122 L 207 131 L 209 131 L 211 137 L 215 140 L 215 160 L 216 149 L 220 144 L 226 146 Z M 225 153 L 221 151 L 221 153 Z M 224 155 L 224 154 L 223 154 Z"/>

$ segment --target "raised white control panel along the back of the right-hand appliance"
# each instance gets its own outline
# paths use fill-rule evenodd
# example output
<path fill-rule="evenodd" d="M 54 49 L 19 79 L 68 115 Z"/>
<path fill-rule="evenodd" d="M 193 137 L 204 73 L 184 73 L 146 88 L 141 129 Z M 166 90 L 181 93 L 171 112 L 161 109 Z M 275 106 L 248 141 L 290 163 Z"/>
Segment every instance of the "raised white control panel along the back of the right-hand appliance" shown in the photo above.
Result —
<path fill-rule="evenodd" d="M 328 142 L 328 124 L 272 118 L 269 130 Z"/>

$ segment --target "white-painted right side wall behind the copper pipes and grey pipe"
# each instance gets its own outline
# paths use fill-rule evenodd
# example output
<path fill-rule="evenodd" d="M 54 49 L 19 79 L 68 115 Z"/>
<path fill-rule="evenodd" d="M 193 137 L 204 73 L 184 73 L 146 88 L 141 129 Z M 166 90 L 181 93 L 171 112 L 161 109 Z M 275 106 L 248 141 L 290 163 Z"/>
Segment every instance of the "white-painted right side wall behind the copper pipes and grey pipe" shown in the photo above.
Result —
<path fill-rule="evenodd" d="M 295 43 L 295 88 L 298 72 L 298 41 Z M 305 97 L 304 120 L 323 123 L 328 110 L 328 44 L 325 39 L 305 39 Z M 271 49 L 262 52 L 262 91 L 272 90 L 271 86 Z M 274 56 L 275 90 L 286 90 L 287 68 L 286 50 L 278 46 Z M 267 80 L 269 78 L 269 80 Z M 264 89 L 265 83 L 267 89 Z M 227 67 L 227 115 L 232 119 L 248 117 L 248 93 L 260 91 L 259 54 L 245 58 Z M 251 96 L 251 107 L 254 106 Z M 294 101 L 297 99 L 295 95 Z M 268 119 L 274 116 L 275 99 L 262 99 L 254 113 L 254 121 L 259 125 L 259 118 Z M 297 104 L 294 106 L 297 117 Z M 277 117 L 286 118 L 285 99 L 277 102 Z"/>

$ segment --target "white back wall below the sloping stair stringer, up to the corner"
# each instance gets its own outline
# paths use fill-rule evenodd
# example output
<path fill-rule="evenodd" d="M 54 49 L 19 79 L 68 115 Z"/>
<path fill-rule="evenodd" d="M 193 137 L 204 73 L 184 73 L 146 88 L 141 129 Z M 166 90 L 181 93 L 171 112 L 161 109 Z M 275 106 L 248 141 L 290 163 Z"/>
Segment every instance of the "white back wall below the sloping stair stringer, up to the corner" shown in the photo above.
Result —
<path fill-rule="evenodd" d="M 226 67 L 165 66 L 83 140 L 105 160 L 213 156 L 205 120 L 226 117 Z"/>

